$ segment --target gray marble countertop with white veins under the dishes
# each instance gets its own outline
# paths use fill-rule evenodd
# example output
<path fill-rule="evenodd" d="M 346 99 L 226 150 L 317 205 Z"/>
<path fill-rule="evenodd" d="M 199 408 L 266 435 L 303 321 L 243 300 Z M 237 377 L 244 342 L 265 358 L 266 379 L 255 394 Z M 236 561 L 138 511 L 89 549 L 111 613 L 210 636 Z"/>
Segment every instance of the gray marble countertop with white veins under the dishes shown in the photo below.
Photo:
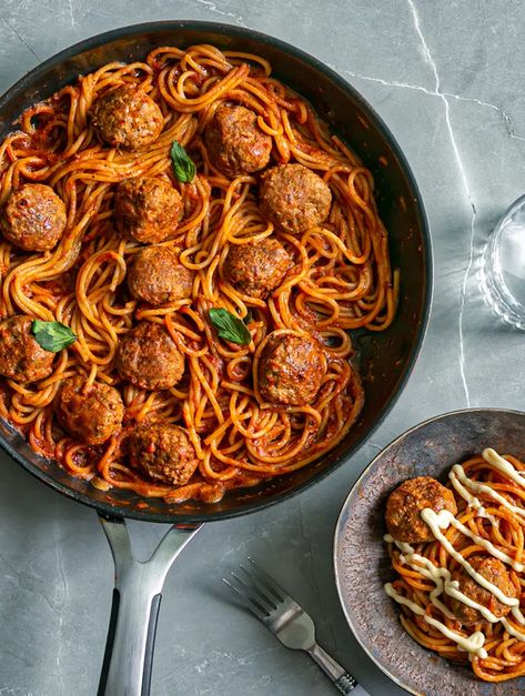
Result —
<path fill-rule="evenodd" d="M 230 604 L 220 578 L 253 556 L 311 612 L 324 647 L 373 696 L 401 689 L 364 656 L 339 606 L 332 536 L 374 454 L 408 426 L 465 406 L 524 407 L 525 336 L 491 315 L 477 262 L 525 188 L 525 4 L 519 0 L 2 0 L 0 92 L 82 38 L 155 19 L 267 32 L 347 79 L 386 121 L 418 181 L 435 262 L 420 360 L 396 406 L 336 473 L 285 505 L 205 527 L 168 576 L 153 696 L 331 696 L 307 656 Z M 92 696 L 112 562 L 95 514 L 0 455 L 0 696 Z M 145 553 L 161 529 L 131 524 Z"/>

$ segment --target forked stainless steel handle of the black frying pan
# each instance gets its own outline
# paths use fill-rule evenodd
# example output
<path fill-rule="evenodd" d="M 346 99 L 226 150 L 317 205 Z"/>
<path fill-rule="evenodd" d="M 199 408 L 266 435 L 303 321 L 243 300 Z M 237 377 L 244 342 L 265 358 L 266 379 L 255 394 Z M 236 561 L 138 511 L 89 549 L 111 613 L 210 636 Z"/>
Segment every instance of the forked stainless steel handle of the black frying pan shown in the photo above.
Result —
<path fill-rule="evenodd" d="M 157 617 L 168 571 L 202 525 L 173 525 L 149 561 L 133 557 L 125 521 L 99 514 L 115 582 L 98 696 L 149 696 Z"/>

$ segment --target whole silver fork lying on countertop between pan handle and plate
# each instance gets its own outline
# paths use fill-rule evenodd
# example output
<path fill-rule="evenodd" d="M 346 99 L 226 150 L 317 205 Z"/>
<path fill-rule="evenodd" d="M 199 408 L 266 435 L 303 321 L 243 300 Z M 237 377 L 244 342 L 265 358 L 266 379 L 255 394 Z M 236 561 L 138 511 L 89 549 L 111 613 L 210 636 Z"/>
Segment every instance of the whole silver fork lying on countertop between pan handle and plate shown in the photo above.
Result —
<path fill-rule="evenodd" d="M 230 579 L 223 577 L 226 585 L 283 645 L 294 650 L 305 650 L 342 694 L 350 694 L 357 682 L 317 645 L 315 626 L 309 614 L 267 573 L 251 558 L 248 561 L 249 567 L 239 566 L 242 577 L 239 577 L 241 573 L 232 573 Z M 357 692 L 366 693 L 362 687 Z"/>

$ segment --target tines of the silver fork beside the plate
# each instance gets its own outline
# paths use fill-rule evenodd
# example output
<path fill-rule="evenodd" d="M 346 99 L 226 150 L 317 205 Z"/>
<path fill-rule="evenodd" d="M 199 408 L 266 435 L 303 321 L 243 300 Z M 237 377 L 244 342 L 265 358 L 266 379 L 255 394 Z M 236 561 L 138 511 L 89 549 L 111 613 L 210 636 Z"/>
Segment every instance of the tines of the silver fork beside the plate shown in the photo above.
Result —
<path fill-rule="evenodd" d="M 277 583 L 270 577 L 262 568 L 248 558 L 250 566 L 240 565 L 242 577 L 230 574 L 230 579 L 223 577 L 226 583 L 243 601 L 244 605 L 251 609 L 258 618 L 265 621 L 272 612 L 287 597 L 286 593 Z"/>

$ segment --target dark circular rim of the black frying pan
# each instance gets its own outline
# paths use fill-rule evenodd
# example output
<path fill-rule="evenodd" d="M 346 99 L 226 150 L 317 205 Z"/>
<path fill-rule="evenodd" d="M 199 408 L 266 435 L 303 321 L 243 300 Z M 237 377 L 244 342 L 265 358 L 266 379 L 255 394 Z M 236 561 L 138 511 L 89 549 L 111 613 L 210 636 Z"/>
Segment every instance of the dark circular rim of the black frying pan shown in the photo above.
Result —
<path fill-rule="evenodd" d="M 162 20 L 162 21 L 153 21 L 153 22 L 142 22 L 138 24 L 129 24 L 125 27 L 120 27 L 112 29 L 107 32 L 102 32 L 99 34 L 94 34 L 87 39 L 83 39 L 61 51 L 51 56 L 46 61 L 41 62 L 37 67 L 34 67 L 30 72 L 20 78 L 14 84 L 12 84 L 7 92 L 0 97 L 0 113 L 4 105 L 9 103 L 11 100 L 16 99 L 18 94 L 26 89 L 28 84 L 38 83 L 38 80 L 46 73 L 46 71 L 50 68 L 57 67 L 64 62 L 65 60 L 82 53 L 84 51 L 100 48 L 110 41 L 113 41 L 119 38 L 133 36 L 133 34 L 145 34 L 148 32 L 161 31 L 161 30 L 200 30 L 200 31 L 209 31 L 221 33 L 224 36 L 235 36 L 240 38 L 251 38 L 256 39 L 261 43 L 266 43 L 273 46 L 281 50 L 285 54 L 293 56 L 301 60 L 302 62 L 309 64 L 314 70 L 323 73 L 327 79 L 334 82 L 340 89 L 350 93 L 352 98 L 360 103 L 360 105 L 370 114 L 371 119 L 375 122 L 377 129 L 381 134 L 388 143 L 388 147 L 392 149 L 393 154 L 400 162 L 400 165 L 403 170 L 404 176 L 408 183 L 408 186 L 414 195 L 414 202 L 416 206 L 418 225 L 422 233 L 422 239 L 424 242 L 425 258 L 424 258 L 424 272 L 425 272 L 425 288 L 422 296 L 422 315 L 420 326 L 417 329 L 417 333 L 415 336 L 414 344 L 411 349 L 411 353 L 406 361 L 406 365 L 404 369 L 404 373 L 401 375 L 397 385 L 393 393 L 390 396 L 387 403 L 383 406 L 382 411 L 378 412 L 378 415 L 374 423 L 370 426 L 370 428 L 356 438 L 347 450 L 342 453 L 337 458 L 335 458 L 330 466 L 315 472 L 307 481 L 297 484 L 295 487 L 277 493 L 272 497 L 263 501 L 251 501 L 246 504 L 240 504 L 239 507 L 234 510 L 224 510 L 224 511 L 213 511 L 211 510 L 208 513 L 150 513 L 148 511 L 141 510 L 128 510 L 124 505 L 111 505 L 109 503 L 103 503 L 100 501 L 95 501 L 90 497 L 88 494 L 74 491 L 69 486 L 63 485 L 62 483 L 55 481 L 55 478 L 42 471 L 38 466 L 33 465 L 26 456 L 11 443 L 7 442 L 4 437 L 0 433 L 0 447 L 4 450 L 19 465 L 21 465 L 28 473 L 32 476 L 39 478 L 44 484 L 52 487 L 54 491 L 58 491 L 62 495 L 67 497 L 88 505 L 89 507 L 93 507 L 98 512 L 113 517 L 127 517 L 130 520 L 140 520 L 145 522 L 157 522 L 157 523 L 202 523 L 210 521 L 221 521 L 221 520 L 231 520 L 234 517 L 239 517 L 244 514 L 250 514 L 253 512 L 258 512 L 261 510 L 265 510 L 271 507 L 272 505 L 276 505 L 285 500 L 290 500 L 291 497 L 302 493 L 310 486 L 319 483 L 330 474 L 332 474 L 335 470 L 337 470 L 346 460 L 353 456 L 360 447 L 372 436 L 372 434 L 376 431 L 376 428 L 383 423 L 386 418 L 398 397 L 401 396 L 406 383 L 412 374 L 414 365 L 417 361 L 417 356 L 420 355 L 423 341 L 426 335 L 428 319 L 432 307 L 432 299 L 433 299 L 433 250 L 432 250 L 432 240 L 430 232 L 430 224 L 425 211 L 425 206 L 423 203 L 423 199 L 417 185 L 417 182 L 414 178 L 412 168 L 408 164 L 408 161 L 403 153 L 401 147 L 398 145 L 396 139 L 391 132 L 390 128 L 385 124 L 383 119 L 377 114 L 375 109 L 368 103 L 368 101 L 346 80 L 344 80 L 337 72 L 335 72 L 332 68 L 323 63 L 321 60 L 311 56 L 294 47 L 291 43 L 282 41 L 275 37 L 270 34 L 254 31 L 248 28 L 235 27 L 232 24 L 223 23 L 223 22 L 209 22 L 201 20 Z"/>

